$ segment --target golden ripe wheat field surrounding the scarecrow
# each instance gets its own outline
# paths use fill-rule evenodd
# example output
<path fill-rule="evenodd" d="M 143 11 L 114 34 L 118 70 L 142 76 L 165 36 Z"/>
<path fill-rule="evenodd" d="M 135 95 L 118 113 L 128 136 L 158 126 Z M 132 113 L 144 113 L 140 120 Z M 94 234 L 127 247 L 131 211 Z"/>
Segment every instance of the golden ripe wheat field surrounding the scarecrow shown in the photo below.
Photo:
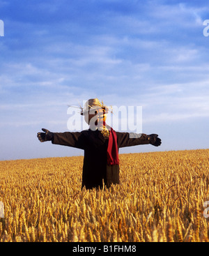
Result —
<path fill-rule="evenodd" d="M 0 161 L 0 241 L 209 241 L 209 149 L 119 158 L 121 184 L 90 191 L 82 156 Z"/>

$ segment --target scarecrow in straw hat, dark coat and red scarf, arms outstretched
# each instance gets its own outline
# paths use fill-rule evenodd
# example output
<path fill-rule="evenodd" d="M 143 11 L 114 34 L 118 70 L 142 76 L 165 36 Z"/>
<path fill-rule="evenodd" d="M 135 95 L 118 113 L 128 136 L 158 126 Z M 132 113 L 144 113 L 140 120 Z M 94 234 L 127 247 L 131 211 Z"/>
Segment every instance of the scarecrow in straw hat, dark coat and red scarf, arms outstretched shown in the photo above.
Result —
<path fill-rule="evenodd" d="M 52 133 L 42 128 L 38 133 L 40 142 L 52 141 L 52 144 L 72 146 L 84 150 L 82 188 L 109 188 L 111 184 L 119 184 L 118 149 L 125 146 L 152 144 L 160 146 L 161 140 L 156 134 L 144 133 L 130 136 L 130 133 L 116 132 L 105 123 L 109 108 L 98 98 L 87 100 L 81 114 L 89 125 L 82 132 Z"/>

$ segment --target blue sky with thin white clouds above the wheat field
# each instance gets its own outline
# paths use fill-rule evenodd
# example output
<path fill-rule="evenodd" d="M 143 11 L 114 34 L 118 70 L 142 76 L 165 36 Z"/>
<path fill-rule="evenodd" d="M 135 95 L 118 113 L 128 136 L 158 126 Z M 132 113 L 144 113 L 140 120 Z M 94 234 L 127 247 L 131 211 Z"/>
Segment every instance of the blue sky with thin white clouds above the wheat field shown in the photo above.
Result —
<path fill-rule="evenodd" d="M 1 1 L 0 160 L 82 155 L 40 143 L 68 131 L 68 105 L 99 98 L 142 106 L 142 132 L 162 146 L 120 153 L 207 149 L 206 1 Z"/>

